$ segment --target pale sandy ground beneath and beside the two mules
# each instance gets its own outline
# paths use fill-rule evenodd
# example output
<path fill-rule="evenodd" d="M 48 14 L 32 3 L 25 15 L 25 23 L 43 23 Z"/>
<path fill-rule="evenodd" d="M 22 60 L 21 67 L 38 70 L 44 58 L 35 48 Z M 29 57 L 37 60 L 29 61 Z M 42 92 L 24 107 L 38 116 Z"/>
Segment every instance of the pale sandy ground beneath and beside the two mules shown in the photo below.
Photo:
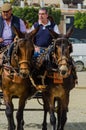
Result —
<path fill-rule="evenodd" d="M 86 72 L 79 72 L 78 79 L 79 84 L 70 93 L 68 120 L 65 130 L 86 130 Z M 17 100 L 14 100 L 15 108 L 17 108 Z M 32 99 L 27 102 L 26 108 L 42 108 L 42 106 Z M 15 114 L 16 111 L 14 112 Z M 43 111 L 24 111 L 24 119 L 25 130 L 41 130 Z M 0 111 L 0 130 L 7 130 L 7 120 L 4 111 Z M 49 116 L 48 130 L 51 130 Z"/>

